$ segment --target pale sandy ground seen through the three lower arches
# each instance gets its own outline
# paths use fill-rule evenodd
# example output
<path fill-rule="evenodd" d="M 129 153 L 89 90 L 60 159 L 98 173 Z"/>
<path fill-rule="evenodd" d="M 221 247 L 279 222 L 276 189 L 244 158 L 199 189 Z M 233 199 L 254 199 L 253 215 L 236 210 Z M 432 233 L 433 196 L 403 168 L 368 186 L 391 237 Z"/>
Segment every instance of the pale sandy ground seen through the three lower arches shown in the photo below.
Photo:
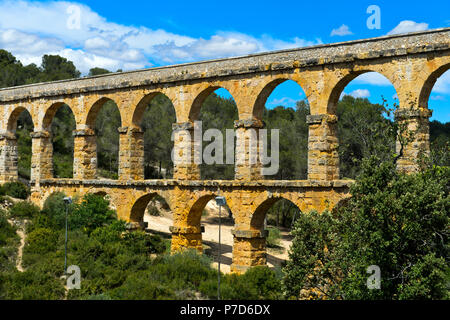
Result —
<path fill-rule="evenodd" d="M 213 267 L 217 268 L 218 252 L 219 252 L 219 215 L 218 209 L 210 202 L 207 207 L 207 216 L 202 217 L 202 225 L 205 232 L 202 234 L 204 252 L 213 259 Z M 144 221 L 148 222 L 150 231 L 171 235 L 169 228 L 172 225 L 172 215 L 170 212 L 162 212 L 159 217 L 145 214 Z M 233 252 L 233 235 L 231 233 L 234 228 L 233 221 L 228 218 L 228 214 L 222 211 L 222 232 L 221 232 L 221 271 L 230 272 Z M 267 265 L 271 268 L 280 266 L 288 258 L 288 249 L 291 244 L 291 237 L 288 230 L 281 230 L 281 248 L 267 249 Z"/>

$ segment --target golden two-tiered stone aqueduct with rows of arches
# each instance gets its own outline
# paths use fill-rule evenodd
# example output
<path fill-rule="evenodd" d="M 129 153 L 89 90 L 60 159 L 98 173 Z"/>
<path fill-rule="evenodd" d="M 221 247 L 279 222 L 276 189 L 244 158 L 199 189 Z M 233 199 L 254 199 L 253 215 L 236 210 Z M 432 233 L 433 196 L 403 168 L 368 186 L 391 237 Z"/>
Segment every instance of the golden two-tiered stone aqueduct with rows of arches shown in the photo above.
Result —
<path fill-rule="evenodd" d="M 280 198 L 303 212 L 332 208 L 348 197 L 351 181 L 339 180 L 336 105 L 345 86 L 365 72 L 378 72 L 395 87 L 400 110 L 397 121 L 417 129 L 399 169 L 414 171 L 418 153 L 429 151 L 428 98 L 439 76 L 450 68 L 450 28 L 395 35 L 246 57 L 183 64 L 92 78 L 58 81 L 0 90 L 0 182 L 18 179 L 15 130 L 19 114 L 32 116 L 32 201 L 42 205 L 53 192 L 67 195 L 106 193 L 118 216 L 139 225 L 150 199 L 159 194 L 173 212 L 172 249 L 202 249 L 201 214 L 219 193 L 235 217 L 232 270 L 266 263 L 264 217 Z M 173 103 L 177 123 L 175 146 L 192 150 L 193 134 L 206 97 L 227 89 L 236 101 L 236 155 L 248 157 L 245 133 L 262 128 L 266 99 L 286 80 L 305 91 L 308 117 L 308 180 L 271 181 L 255 165 L 236 166 L 233 181 L 202 181 L 194 163 L 176 165 L 170 180 L 144 180 L 145 108 L 162 93 Z M 120 111 L 119 180 L 96 179 L 96 115 L 113 100 Z M 74 113 L 74 178 L 54 179 L 50 125 L 62 105 Z M 177 134 L 178 133 L 178 134 Z"/>

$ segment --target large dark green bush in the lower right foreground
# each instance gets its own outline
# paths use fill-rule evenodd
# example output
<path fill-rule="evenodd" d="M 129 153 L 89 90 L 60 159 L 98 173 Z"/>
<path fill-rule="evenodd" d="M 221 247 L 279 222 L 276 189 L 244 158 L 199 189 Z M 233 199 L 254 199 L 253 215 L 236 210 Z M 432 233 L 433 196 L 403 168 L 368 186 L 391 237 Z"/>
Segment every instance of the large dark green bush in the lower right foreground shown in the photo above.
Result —
<path fill-rule="evenodd" d="M 299 219 L 285 268 L 288 296 L 316 288 L 328 298 L 449 298 L 449 168 L 403 175 L 378 163 L 364 161 L 352 198 L 335 214 Z M 366 286 L 371 265 L 381 269 L 381 290 Z"/>

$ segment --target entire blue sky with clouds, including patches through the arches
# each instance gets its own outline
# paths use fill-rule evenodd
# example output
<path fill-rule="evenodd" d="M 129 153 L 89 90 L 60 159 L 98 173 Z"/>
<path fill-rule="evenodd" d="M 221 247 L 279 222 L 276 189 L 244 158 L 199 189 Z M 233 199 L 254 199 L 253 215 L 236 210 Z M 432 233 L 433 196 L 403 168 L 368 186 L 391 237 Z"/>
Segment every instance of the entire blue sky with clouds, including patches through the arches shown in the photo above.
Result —
<path fill-rule="evenodd" d="M 370 30 L 367 8 L 381 10 Z M 450 2 L 422 1 L 1 1 L 0 48 L 24 64 L 60 54 L 84 74 L 92 67 L 134 70 L 450 27 Z M 355 79 L 345 94 L 393 103 L 395 90 L 376 74 Z M 300 87 L 279 86 L 267 102 L 295 105 Z M 450 121 L 450 71 L 429 102 L 433 119 Z"/>

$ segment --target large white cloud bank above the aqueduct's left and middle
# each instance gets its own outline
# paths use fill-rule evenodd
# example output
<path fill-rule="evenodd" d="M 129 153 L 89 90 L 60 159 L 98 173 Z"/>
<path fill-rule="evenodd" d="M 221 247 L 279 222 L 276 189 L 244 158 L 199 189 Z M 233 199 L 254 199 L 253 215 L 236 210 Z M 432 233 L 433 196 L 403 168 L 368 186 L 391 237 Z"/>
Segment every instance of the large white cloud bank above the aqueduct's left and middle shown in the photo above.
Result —
<path fill-rule="evenodd" d="M 70 6 L 79 8 L 79 29 L 68 27 Z M 320 39 L 284 41 L 238 32 L 193 38 L 109 22 L 90 7 L 74 2 L 0 1 L 0 48 L 11 51 L 24 64 L 40 64 L 42 55 L 59 54 L 73 60 L 84 74 L 92 67 L 130 70 L 321 43 Z"/>

